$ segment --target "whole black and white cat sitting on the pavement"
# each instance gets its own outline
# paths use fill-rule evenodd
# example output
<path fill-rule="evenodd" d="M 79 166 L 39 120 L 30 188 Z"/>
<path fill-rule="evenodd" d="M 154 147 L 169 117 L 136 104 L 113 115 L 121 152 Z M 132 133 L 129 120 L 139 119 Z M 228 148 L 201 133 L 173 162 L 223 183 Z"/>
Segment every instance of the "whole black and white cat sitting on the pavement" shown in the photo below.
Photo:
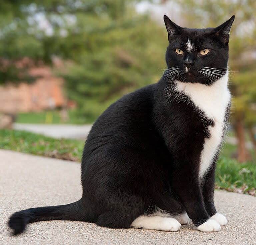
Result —
<path fill-rule="evenodd" d="M 14 213 L 9 226 L 78 220 L 111 228 L 200 231 L 227 223 L 216 212 L 214 173 L 230 107 L 232 16 L 189 29 L 166 15 L 168 69 L 160 81 L 123 96 L 94 123 L 83 151 L 83 196 L 74 203 Z"/>

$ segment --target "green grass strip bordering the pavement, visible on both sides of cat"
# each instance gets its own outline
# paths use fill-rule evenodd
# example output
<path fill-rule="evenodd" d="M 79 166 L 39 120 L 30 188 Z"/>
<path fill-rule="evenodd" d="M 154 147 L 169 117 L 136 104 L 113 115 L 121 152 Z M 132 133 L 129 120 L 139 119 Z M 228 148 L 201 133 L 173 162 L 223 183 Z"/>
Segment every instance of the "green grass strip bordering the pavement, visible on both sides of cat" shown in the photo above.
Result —
<path fill-rule="evenodd" d="M 53 139 L 25 131 L 0 130 L 0 148 L 34 155 L 80 161 L 84 141 Z M 216 169 L 216 188 L 256 195 L 256 164 L 231 159 L 235 145 L 225 144 Z"/>

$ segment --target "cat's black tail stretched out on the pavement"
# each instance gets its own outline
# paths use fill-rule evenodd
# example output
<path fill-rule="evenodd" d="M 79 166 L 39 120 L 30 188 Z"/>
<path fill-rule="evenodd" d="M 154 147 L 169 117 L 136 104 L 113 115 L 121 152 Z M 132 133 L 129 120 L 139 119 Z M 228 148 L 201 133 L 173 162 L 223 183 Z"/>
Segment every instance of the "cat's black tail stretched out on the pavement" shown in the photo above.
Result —
<path fill-rule="evenodd" d="M 45 220 L 76 220 L 83 221 L 81 200 L 67 205 L 30 208 L 14 213 L 9 219 L 9 226 L 14 235 L 24 231 L 28 223 Z"/>

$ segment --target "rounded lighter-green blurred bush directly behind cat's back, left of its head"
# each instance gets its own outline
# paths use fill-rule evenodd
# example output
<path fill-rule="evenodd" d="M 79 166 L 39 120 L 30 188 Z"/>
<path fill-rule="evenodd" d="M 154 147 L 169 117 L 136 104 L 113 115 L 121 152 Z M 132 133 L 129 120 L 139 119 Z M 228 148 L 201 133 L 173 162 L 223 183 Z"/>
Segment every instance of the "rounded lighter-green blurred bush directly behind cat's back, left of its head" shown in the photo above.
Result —
<path fill-rule="evenodd" d="M 90 29 L 73 45 L 82 47 L 64 78 L 67 95 L 78 102 L 81 114 L 96 119 L 123 94 L 160 78 L 166 33 L 134 12 L 124 13 L 118 22 L 108 13 L 81 18 Z"/>

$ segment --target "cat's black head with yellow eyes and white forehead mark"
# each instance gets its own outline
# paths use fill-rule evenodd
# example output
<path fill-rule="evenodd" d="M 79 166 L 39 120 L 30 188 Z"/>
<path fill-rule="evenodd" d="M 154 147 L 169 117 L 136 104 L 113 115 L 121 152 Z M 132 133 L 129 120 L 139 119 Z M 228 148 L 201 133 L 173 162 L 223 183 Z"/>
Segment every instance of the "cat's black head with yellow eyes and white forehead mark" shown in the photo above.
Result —
<path fill-rule="evenodd" d="M 227 72 L 229 32 L 235 19 L 216 28 L 180 27 L 166 15 L 167 75 L 182 82 L 213 84 Z"/>

